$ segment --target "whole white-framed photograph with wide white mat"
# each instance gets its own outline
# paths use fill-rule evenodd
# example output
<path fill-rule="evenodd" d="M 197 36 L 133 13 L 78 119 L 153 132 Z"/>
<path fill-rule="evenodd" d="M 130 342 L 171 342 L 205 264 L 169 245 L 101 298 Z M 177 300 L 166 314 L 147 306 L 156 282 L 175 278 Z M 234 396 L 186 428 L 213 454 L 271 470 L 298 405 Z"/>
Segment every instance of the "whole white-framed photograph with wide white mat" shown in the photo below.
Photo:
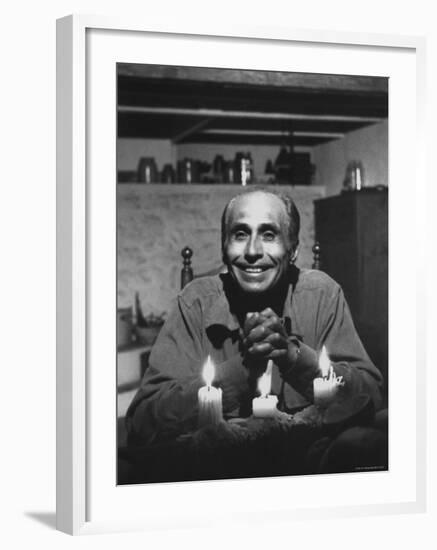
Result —
<path fill-rule="evenodd" d="M 58 21 L 60 530 L 424 509 L 423 58 Z"/>

